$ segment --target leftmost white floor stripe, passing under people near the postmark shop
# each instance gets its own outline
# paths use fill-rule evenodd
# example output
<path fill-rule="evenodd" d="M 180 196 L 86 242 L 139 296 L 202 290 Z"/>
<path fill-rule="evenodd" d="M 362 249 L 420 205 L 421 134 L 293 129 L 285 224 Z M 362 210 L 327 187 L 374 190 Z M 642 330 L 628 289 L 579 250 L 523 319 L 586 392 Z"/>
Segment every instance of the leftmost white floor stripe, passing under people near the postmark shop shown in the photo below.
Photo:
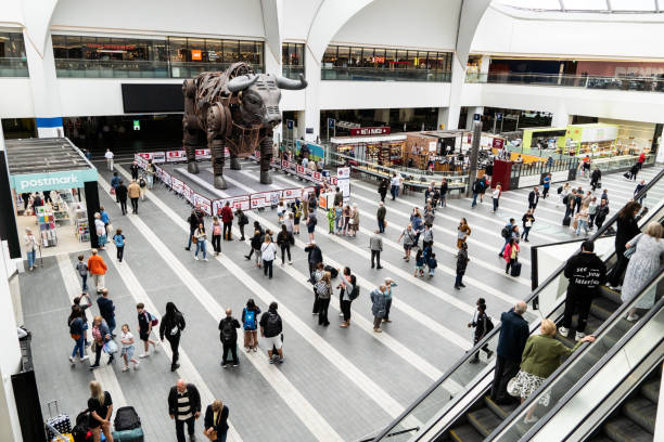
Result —
<path fill-rule="evenodd" d="M 62 275 L 62 280 L 64 281 L 65 288 L 67 290 L 67 297 L 69 298 L 69 301 L 73 304 L 74 298 L 76 298 L 77 296 L 80 296 L 81 294 L 80 281 L 77 277 L 78 271 L 74 268 L 74 264 L 69 260 L 68 255 L 59 255 L 56 257 L 56 260 L 58 260 L 58 268 L 60 269 L 60 274 Z M 94 284 L 94 283 L 90 281 L 90 284 Z M 92 302 L 94 302 L 93 298 L 94 298 L 93 296 L 90 297 Z M 90 342 L 92 342 L 92 320 L 94 316 L 91 310 L 92 309 L 86 309 L 86 316 L 88 317 L 88 324 L 90 327 L 90 329 L 87 333 L 88 333 L 88 338 L 90 339 Z M 92 346 L 86 349 L 86 352 L 87 352 L 86 354 L 89 356 L 88 362 L 90 365 L 94 363 L 94 352 L 91 349 L 92 349 Z M 72 353 L 69 353 L 69 355 L 71 354 Z M 116 359 L 118 363 L 122 363 L 120 362 L 122 358 L 119 356 L 119 352 L 116 355 Z M 85 370 L 87 370 L 89 367 L 89 365 L 86 363 L 78 364 L 77 366 L 79 366 L 80 368 Z M 115 376 L 115 372 L 113 370 L 112 365 L 107 365 L 105 362 L 102 362 L 101 366 L 94 369 L 92 374 L 94 375 L 94 380 L 101 384 L 102 388 L 104 390 L 107 390 L 108 393 L 111 393 L 111 398 L 113 398 L 113 403 L 115 404 L 117 408 L 119 408 L 120 406 L 127 405 L 127 400 L 125 399 L 125 394 L 123 393 L 123 389 L 120 388 L 120 385 L 117 380 L 117 376 Z"/>

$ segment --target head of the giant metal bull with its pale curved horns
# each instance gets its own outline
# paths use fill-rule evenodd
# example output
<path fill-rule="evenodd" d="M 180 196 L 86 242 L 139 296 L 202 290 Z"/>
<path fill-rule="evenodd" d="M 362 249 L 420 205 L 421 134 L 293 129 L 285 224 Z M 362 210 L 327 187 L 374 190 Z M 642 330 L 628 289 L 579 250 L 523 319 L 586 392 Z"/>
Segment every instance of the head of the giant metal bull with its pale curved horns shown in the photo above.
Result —
<path fill-rule="evenodd" d="M 271 74 L 242 75 L 227 84 L 231 93 L 238 93 L 241 101 L 241 116 L 244 125 L 274 127 L 281 123 L 279 101 L 281 89 L 298 90 L 307 87 L 304 76 L 299 80 L 274 76 Z"/>

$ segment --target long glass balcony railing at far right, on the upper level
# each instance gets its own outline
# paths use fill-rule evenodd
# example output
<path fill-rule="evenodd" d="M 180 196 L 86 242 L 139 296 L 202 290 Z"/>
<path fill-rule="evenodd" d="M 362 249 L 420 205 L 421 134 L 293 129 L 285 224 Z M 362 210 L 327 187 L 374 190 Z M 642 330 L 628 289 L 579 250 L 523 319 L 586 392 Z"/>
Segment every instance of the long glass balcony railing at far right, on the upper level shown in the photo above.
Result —
<path fill-rule="evenodd" d="M 465 82 L 562 86 L 566 88 L 664 92 L 664 75 L 657 77 L 601 77 L 559 74 L 467 73 Z"/>

